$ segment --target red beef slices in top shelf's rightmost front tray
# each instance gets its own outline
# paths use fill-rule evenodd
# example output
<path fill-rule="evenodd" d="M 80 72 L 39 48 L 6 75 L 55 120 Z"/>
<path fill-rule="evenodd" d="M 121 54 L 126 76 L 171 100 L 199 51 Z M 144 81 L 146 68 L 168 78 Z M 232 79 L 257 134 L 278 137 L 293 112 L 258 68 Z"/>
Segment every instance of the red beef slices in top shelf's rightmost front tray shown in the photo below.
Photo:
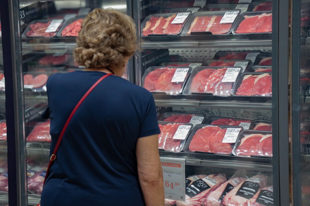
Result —
<path fill-rule="evenodd" d="M 272 14 L 244 16 L 235 33 L 266 33 L 272 31 Z"/>

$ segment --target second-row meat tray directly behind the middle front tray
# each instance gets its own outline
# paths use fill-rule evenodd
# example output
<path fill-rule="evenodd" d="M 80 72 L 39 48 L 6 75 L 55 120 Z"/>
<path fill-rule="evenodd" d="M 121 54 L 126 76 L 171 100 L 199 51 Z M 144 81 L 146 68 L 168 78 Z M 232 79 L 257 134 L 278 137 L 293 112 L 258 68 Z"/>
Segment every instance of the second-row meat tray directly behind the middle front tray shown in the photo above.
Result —
<path fill-rule="evenodd" d="M 203 62 L 202 67 L 241 67 L 244 72 L 252 64 L 251 60 L 237 59 L 208 59 Z"/>

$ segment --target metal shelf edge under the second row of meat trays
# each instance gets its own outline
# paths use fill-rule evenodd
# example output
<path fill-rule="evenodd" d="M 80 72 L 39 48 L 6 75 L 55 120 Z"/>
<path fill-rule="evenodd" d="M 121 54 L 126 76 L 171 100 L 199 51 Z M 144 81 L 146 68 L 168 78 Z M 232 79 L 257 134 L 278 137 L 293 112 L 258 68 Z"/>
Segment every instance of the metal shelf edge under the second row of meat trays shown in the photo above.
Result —
<path fill-rule="evenodd" d="M 153 94 L 156 106 L 216 107 L 271 110 L 271 97 Z"/>

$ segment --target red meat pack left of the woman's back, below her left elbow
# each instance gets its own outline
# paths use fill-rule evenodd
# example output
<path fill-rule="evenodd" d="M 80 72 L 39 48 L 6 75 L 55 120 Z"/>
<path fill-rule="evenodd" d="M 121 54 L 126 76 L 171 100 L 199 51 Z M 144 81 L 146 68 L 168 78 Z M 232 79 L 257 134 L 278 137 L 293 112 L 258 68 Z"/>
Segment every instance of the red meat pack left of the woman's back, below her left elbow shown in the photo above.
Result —
<path fill-rule="evenodd" d="M 27 142 L 51 142 L 50 120 L 36 124 L 26 140 Z"/>

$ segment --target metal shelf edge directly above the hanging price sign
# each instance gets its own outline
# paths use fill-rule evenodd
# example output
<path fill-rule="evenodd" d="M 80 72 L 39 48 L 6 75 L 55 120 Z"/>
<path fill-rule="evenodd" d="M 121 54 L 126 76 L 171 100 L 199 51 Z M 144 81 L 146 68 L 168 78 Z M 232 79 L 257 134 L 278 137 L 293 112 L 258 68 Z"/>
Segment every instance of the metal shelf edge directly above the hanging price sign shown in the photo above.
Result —
<path fill-rule="evenodd" d="M 236 157 L 232 155 L 192 152 L 160 151 L 160 157 L 184 158 L 185 165 L 272 171 L 272 159 L 264 157 Z"/>

